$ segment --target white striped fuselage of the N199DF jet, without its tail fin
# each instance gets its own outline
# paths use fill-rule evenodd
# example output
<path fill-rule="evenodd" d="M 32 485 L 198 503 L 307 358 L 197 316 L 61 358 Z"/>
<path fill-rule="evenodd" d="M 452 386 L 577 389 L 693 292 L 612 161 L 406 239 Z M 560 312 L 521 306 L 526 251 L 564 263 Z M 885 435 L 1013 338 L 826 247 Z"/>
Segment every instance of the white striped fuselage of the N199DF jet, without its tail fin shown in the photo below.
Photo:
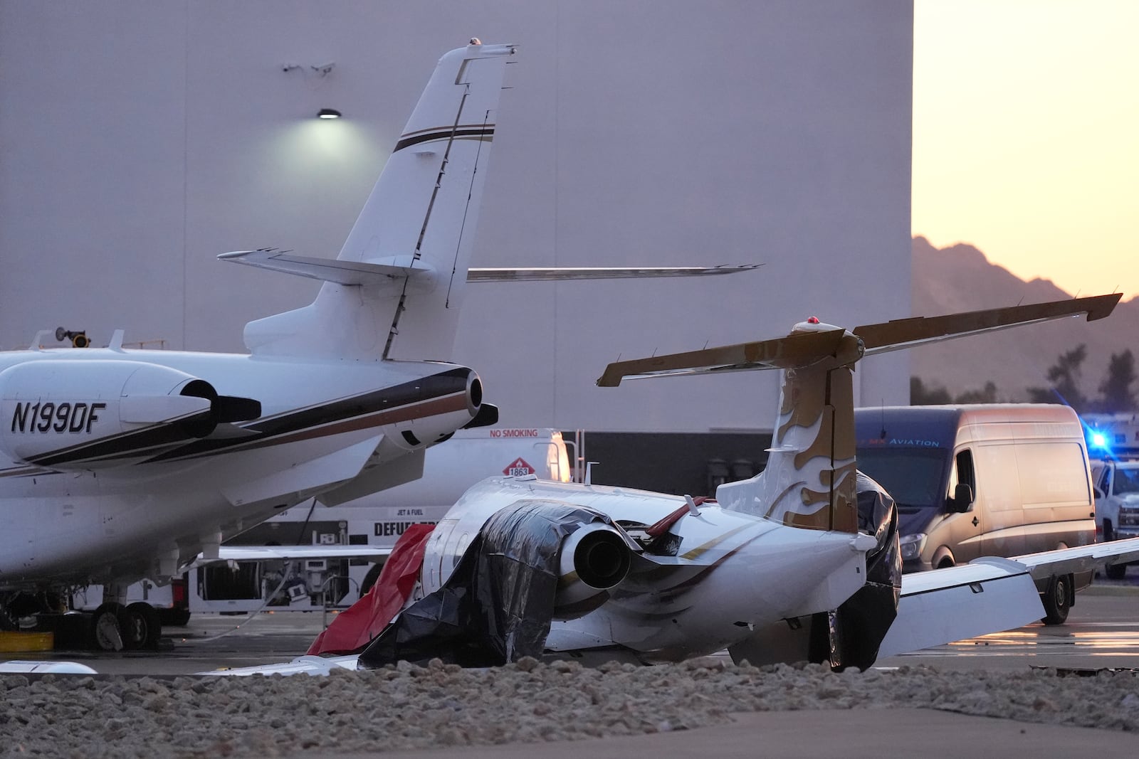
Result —
<path fill-rule="evenodd" d="M 67 363 L 66 379 L 56 362 Z M 161 419 L 163 404 L 185 405 L 177 388 L 118 379 L 166 370 L 260 402 L 261 414 L 199 436 L 185 422 L 200 424 L 203 413 Z M 25 377 L 43 380 L 28 387 Z M 156 556 L 172 572 L 274 511 L 461 428 L 477 412 L 477 381 L 433 362 L 0 354 L 0 588 L 155 576 Z"/>

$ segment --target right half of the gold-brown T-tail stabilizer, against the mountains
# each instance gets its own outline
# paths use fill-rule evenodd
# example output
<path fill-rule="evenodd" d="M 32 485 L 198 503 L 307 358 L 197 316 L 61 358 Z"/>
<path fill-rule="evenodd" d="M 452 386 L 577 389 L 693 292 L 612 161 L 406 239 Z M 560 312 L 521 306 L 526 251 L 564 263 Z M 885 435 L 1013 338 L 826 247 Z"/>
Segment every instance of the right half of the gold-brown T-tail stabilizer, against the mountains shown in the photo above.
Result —
<path fill-rule="evenodd" d="M 1116 292 L 1090 298 L 1035 303 L 1027 306 L 972 311 L 949 316 L 915 316 L 880 324 L 855 327 L 853 331 L 862 339 L 866 355 L 871 355 L 1081 314 L 1087 314 L 1090 322 L 1111 314 L 1121 297 L 1122 294 Z"/>

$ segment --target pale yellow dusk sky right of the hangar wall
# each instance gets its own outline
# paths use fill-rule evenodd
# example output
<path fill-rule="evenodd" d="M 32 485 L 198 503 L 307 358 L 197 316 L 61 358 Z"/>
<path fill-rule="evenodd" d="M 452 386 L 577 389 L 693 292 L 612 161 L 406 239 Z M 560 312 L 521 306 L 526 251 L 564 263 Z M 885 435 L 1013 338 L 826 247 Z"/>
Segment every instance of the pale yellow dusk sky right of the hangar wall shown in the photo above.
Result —
<path fill-rule="evenodd" d="M 1139 295 L 1139 1 L 916 0 L 912 231 Z"/>

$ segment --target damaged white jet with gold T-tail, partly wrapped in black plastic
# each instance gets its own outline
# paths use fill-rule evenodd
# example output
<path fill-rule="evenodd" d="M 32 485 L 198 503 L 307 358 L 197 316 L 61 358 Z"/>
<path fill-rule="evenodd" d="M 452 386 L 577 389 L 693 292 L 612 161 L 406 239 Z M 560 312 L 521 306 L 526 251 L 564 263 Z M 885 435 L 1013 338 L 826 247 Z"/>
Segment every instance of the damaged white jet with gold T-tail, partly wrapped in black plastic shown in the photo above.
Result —
<path fill-rule="evenodd" d="M 434 657 L 473 666 L 523 655 L 647 663 L 722 649 L 752 663 L 865 668 L 879 655 L 1040 619 L 1038 580 L 1133 560 L 1139 538 L 903 579 L 894 503 L 857 471 L 853 370 L 863 356 L 924 343 L 1081 314 L 1101 319 L 1118 299 L 853 330 L 812 319 L 782 338 L 609 364 L 603 387 L 781 369 L 767 469 L 721 485 L 716 501 L 704 503 L 534 478 L 484 480 L 419 543 L 419 591 L 391 624 L 359 617 L 362 635 L 334 634 L 353 618 L 344 614 L 327 630 L 337 641 L 378 634 L 362 652 L 226 674 L 312 674 Z"/>

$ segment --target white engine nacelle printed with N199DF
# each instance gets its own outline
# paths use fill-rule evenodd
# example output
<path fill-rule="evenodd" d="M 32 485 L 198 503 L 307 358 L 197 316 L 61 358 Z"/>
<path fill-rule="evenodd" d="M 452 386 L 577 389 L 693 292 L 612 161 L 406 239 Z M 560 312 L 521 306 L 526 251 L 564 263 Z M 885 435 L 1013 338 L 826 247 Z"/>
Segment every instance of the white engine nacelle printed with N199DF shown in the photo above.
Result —
<path fill-rule="evenodd" d="M 120 465 L 260 414 L 255 401 L 139 361 L 44 360 L 0 372 L 0 449 L 51 469 Z"/>

